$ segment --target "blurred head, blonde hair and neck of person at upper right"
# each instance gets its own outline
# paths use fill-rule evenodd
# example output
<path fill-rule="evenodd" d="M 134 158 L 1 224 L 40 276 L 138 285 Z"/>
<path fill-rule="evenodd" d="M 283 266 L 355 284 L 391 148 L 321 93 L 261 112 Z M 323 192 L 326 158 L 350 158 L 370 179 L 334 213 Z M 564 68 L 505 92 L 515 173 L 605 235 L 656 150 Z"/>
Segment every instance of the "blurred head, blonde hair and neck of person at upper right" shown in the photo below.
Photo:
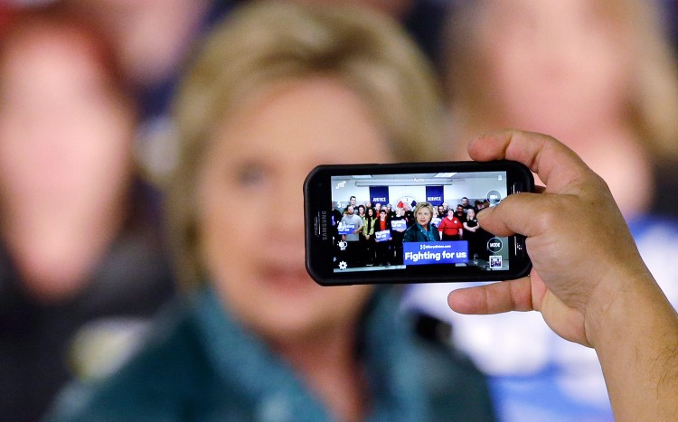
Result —
<path fill-rule="evenodd" d="M 660 16 L 644 0 L 466 2 L 447 37 L 455 136 L 548 133 L 605 179 L 627 219 L 673 202 L 654 198 L 657 166 L 678 160 L 678 74 Z"/>

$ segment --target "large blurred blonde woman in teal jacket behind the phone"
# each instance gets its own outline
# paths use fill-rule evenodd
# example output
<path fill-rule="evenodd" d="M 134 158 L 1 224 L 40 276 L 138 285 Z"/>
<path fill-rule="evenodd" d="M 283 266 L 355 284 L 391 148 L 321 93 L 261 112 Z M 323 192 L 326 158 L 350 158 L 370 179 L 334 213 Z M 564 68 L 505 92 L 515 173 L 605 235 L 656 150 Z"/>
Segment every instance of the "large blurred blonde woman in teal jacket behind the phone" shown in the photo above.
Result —
<path fill-rule="evenodd" d="M 169 230 L 186 295 L 111 378 L 56 420 L 486 420 L 485 381 L 412 330 L 397 291 L 318 286 L 299 187 L 320 163 L 424 160 L 438 89 L 397 25 L 353 8 L 245 5 L 176 100 Z M 284 218 L 231 219 L 233 201 Z"/>

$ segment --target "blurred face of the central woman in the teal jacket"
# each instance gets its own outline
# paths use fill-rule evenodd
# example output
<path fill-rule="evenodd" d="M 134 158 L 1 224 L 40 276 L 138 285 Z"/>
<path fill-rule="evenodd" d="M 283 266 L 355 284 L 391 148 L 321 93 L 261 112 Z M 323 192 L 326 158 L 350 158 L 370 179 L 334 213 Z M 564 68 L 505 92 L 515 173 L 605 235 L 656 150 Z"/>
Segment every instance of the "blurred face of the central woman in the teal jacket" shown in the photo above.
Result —
<path fill-rule="evenodd" d="M 274 340 L 353 324 L 371 287 L 327 289 L 308 276 L 300 186 L 319 163 L 392 159 L 370 110 L 335 80 L 297 81 L 231 113 L 212 141 L 198 218 L 204 266 L 227 309 Z M 241 211 L 270 203 L 276 218 Z"/>

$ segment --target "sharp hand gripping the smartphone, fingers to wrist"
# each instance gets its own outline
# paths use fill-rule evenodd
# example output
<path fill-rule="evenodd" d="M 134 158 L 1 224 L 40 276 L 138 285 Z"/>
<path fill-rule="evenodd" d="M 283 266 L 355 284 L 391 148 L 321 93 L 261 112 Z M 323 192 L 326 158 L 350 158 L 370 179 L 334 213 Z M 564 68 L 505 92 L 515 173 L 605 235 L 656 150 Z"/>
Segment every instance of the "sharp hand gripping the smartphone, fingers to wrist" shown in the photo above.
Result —
<path fill-rule="evenodd" d="M 527 236 L 530 277 L 459 289 L 448 304 L 464 314 L 540 311 L 561 337 L 595 345 L 600 314 L 616 293 L 638 278 L 653 282 L 606 183 L 550 136 L 494 132 L 468 152 L 476 161 L 526 164 L 546 187 L 478 214 L 480 226 L 497 236 Z"/>

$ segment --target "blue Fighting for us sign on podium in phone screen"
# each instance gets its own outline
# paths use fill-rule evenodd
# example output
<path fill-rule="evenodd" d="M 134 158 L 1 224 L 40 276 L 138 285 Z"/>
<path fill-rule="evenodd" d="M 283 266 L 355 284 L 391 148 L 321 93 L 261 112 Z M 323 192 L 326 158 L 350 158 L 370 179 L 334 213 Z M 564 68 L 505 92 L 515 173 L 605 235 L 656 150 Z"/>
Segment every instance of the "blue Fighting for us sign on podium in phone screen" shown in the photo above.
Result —
<path fill-rule="evenodd" d="M 446 242 L 405 242 L 402 244 L 404 264 L 466 264 L 468 242 L 466 240 Z"/>

